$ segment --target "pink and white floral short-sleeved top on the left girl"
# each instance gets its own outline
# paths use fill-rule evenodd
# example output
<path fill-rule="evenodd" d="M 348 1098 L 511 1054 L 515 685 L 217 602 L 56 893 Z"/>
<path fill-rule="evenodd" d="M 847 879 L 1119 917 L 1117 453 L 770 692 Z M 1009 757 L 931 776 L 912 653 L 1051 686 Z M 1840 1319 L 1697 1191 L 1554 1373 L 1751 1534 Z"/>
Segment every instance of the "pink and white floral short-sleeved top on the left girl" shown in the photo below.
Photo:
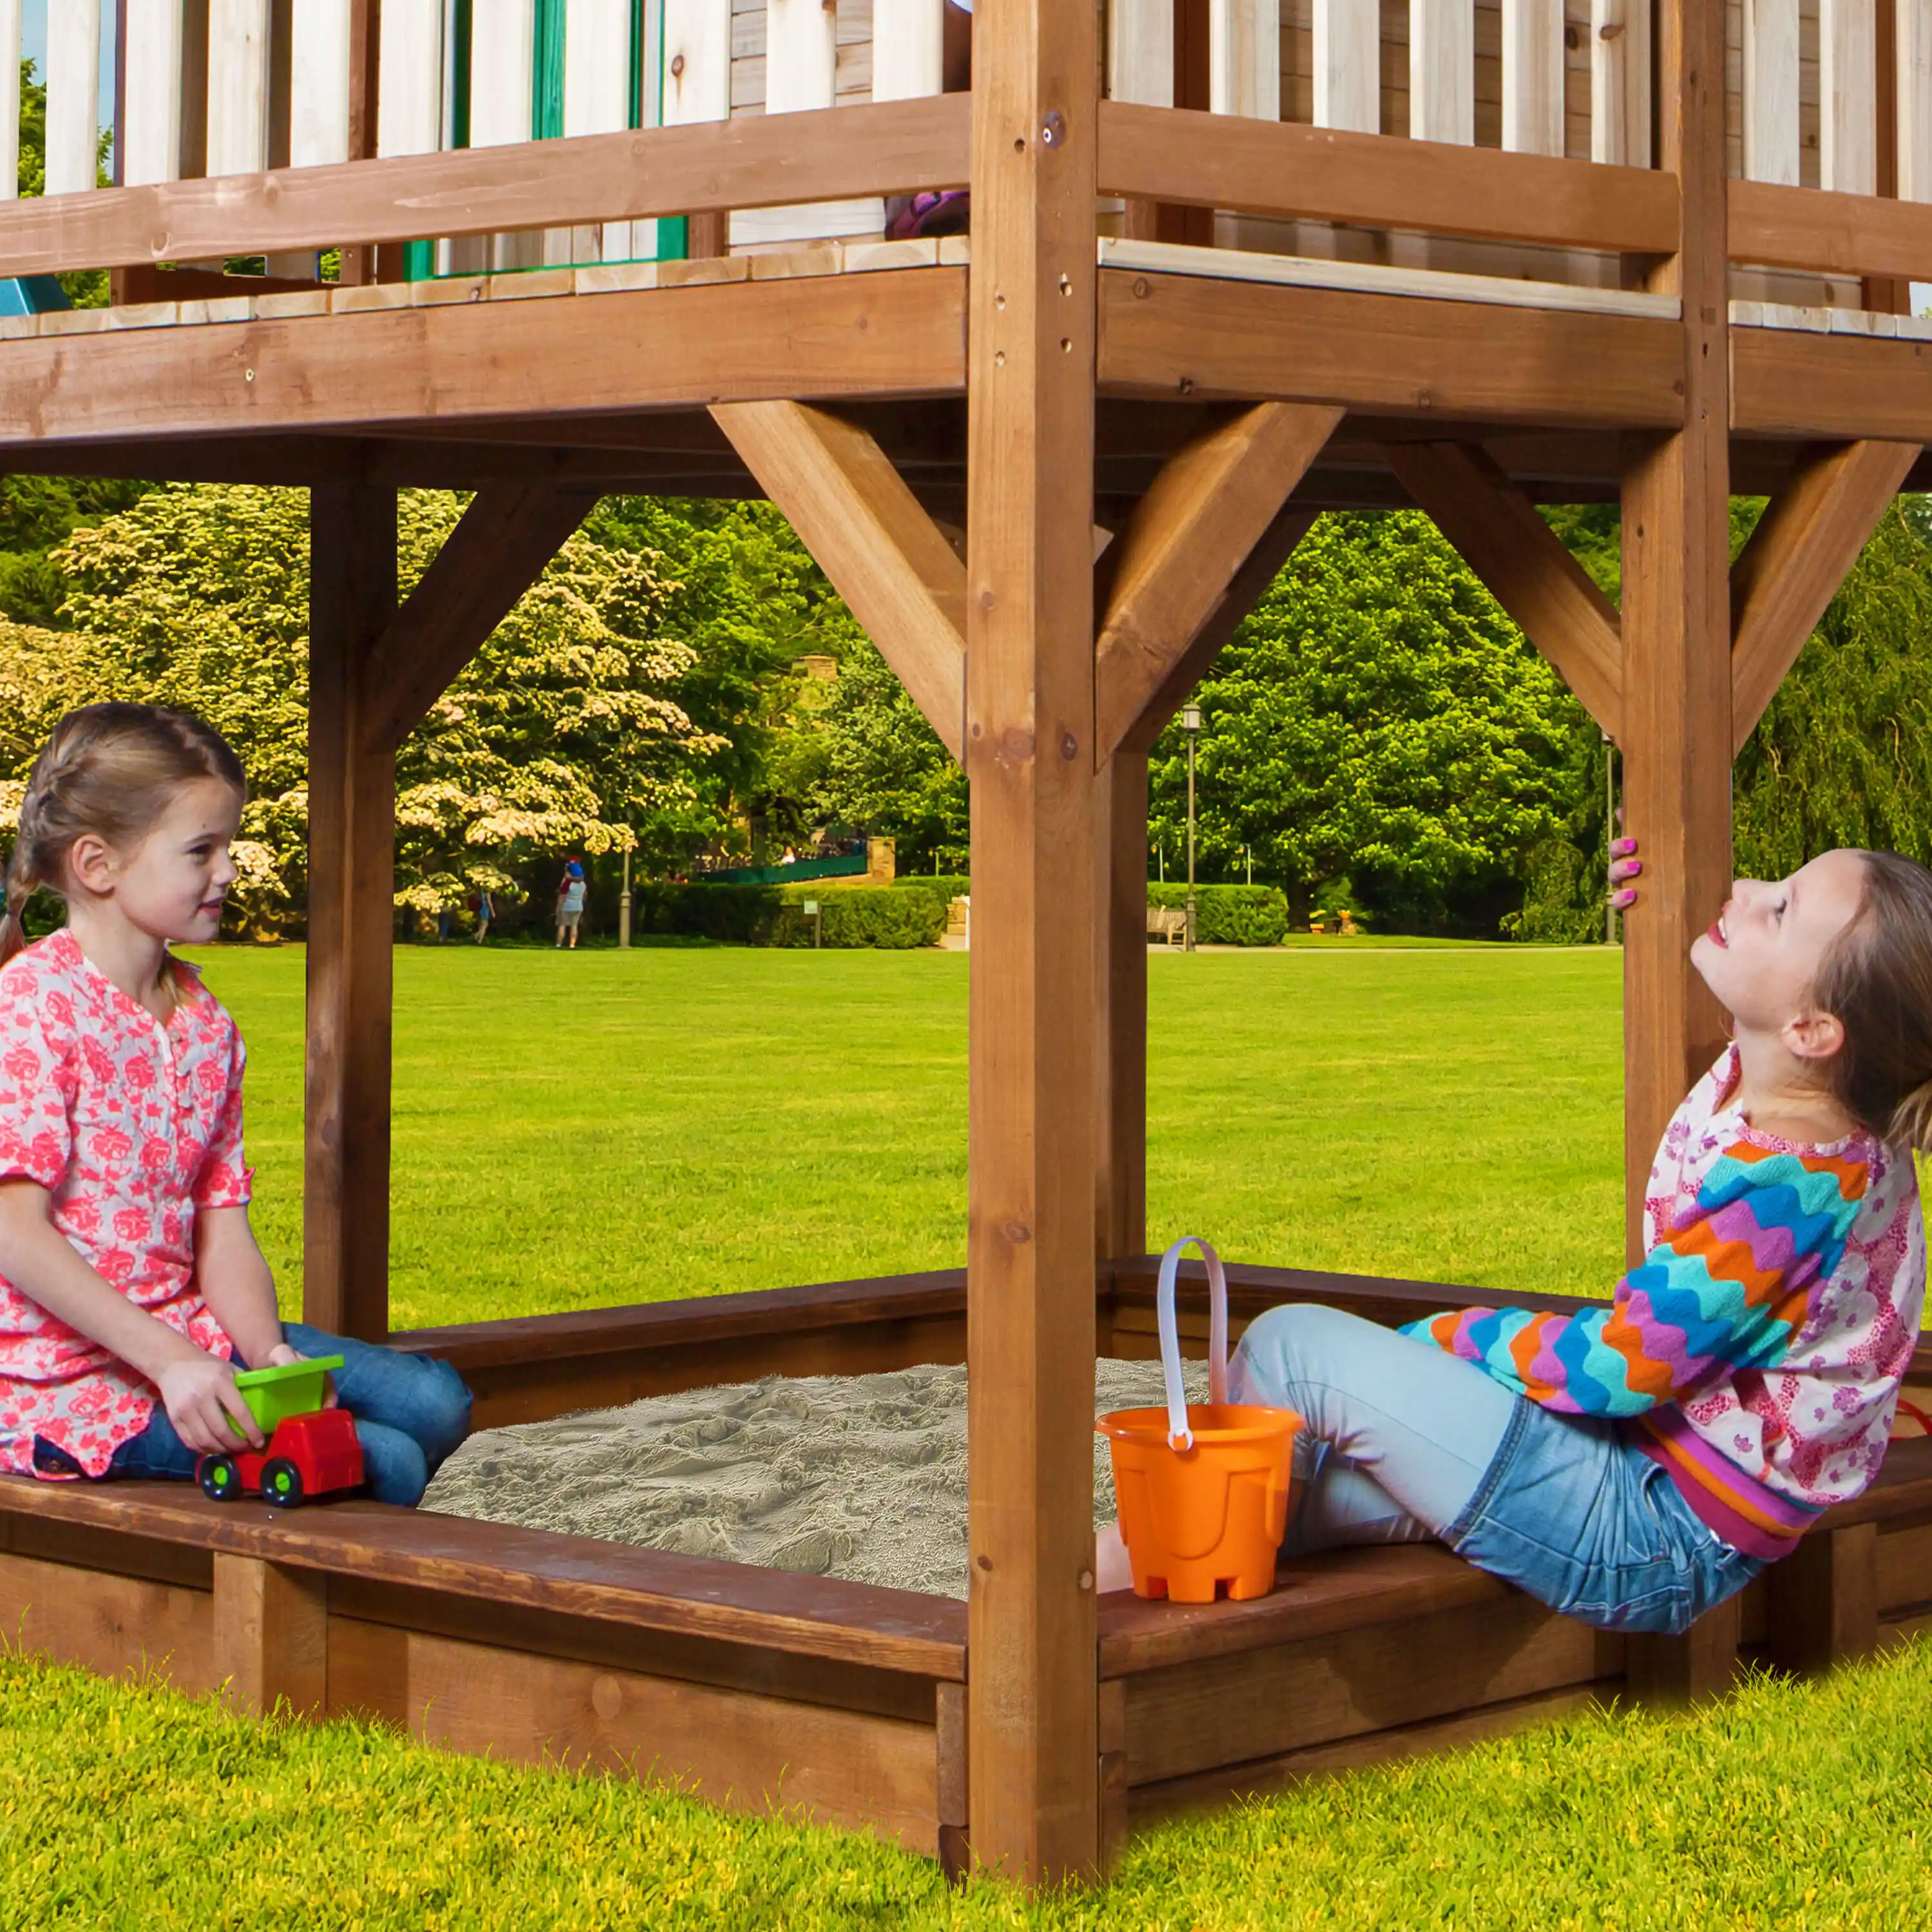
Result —
<path fill-rule="evenodd" d="M 226 1360 L 195 1291 L 195 1213 L 240 1208 L 243 1049 L 182 960 L 166 1026 L 62 927 L 0 968 L 0 1179 L 54 1196 L 54 1225 L 128 1300 Z M 33 1439 L 89 1476 L 147 1428 L 155 1385 L 0 1277 L 0 1470 L 33 1472 Z"/>

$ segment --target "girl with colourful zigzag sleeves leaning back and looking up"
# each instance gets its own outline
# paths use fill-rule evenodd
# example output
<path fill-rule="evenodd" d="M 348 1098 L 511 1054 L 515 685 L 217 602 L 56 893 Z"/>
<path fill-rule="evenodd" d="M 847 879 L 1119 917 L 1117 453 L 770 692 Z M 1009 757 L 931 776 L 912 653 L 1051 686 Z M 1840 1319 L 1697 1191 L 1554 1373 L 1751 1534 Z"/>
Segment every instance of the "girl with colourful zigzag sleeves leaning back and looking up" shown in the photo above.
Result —
<path fill-rule="evenodd" d="M 1878 1472 L 1924 1294 L 1932 873 L 1826 852 L 1741 879 L 1690 962 L 1733 1043 L 1609 1308 L 1248 1329 L 1233 1399 L 1308 1420 L 1289 1553 L 1437 1536 L 1553 1609 L 1675 1633 Z"/>

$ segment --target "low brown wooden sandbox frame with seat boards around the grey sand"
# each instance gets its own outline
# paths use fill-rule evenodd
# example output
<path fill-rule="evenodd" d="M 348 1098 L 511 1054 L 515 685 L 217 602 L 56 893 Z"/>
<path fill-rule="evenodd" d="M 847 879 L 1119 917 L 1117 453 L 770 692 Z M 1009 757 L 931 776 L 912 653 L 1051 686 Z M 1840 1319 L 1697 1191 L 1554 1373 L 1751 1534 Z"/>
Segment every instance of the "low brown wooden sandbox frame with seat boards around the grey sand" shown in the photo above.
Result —
<path fill-rule="evenodd" d="M 1095 1349 L 1151 1356 L 1153 1258 L 1107 1265 Z M 1470 1291 L 1233 1267 L 1231 1327 L 1285 1300 L 1403 1321 Z M 1540 1298 L 1536 1306 L 1575 1306 Z M 1184 1345 L 1206 1337 L 1198 1269 Z M 786 1374 L 966 1358 L 966 1273 L 398 1335 L 477 1426 Z M 1915 1383 L 1932 1383 L 1932 1347 Z M 458 1750 L 678 1779 L 970 1864 L 962 1602 L 377 1503 L 278 1515 L 185 1488 L 0 1480 L 0 1619 L 102 1673 L 243 1710 L 365 1716 Z M 1138 1824 L 1609 1698 L 1712 1694 L 1932 1627 L 1932 1437 L 1694 1640 L 1557 1617 L 1435 1546 L 1283 1563 L 1271 1596 L 1097 1604 L 1103 1851 Z"/>

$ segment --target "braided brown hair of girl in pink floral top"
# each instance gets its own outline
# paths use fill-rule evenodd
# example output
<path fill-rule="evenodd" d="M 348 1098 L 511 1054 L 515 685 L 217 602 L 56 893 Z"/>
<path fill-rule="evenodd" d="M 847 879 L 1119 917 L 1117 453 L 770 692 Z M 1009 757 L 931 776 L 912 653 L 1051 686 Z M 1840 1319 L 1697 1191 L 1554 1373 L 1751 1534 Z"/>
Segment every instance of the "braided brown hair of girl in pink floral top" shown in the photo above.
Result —
<path fill-rule="evenodd" d="M 27 900 L 37 891 L 66 893 L 75 838 L 93 833 L 108 844 L 137 844 L 168 800 L 197 779 L 247 790 L 228 740 L 187 711 L 118 703 L 70 711 L 27 775 L 6 867 L 0 966 L 27 943 Z"/>

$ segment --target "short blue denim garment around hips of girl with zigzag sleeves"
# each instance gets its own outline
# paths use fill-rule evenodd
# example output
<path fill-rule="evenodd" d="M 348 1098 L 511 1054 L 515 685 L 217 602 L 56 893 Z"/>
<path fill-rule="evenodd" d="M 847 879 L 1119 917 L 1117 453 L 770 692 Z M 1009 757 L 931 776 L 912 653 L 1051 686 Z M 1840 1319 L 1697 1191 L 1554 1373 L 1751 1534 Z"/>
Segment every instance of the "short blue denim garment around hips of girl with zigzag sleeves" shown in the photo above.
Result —
<path fill-rule="evenodd" d="M 1619 1424 L 1522 1399 L 1443 1542 L 1604 1631 L 1683 1634 L 1764 1569 L 1702 1522 Z"/>

